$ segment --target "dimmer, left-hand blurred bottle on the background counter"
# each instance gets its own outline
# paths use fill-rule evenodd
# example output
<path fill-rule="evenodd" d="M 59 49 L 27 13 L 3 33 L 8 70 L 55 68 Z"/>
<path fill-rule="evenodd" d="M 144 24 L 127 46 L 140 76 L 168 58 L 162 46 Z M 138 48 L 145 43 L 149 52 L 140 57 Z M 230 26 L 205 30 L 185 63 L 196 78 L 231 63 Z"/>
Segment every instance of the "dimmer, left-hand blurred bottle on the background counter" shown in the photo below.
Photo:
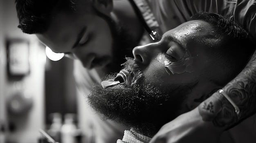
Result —
<path fill-rule="evenodd" d="M 62 127 L 62 117 L 61 113 L 52 113 L 52 124 L 48 130 L 48 134 L 57 142 L 61 141 L 61 127 Z"/>

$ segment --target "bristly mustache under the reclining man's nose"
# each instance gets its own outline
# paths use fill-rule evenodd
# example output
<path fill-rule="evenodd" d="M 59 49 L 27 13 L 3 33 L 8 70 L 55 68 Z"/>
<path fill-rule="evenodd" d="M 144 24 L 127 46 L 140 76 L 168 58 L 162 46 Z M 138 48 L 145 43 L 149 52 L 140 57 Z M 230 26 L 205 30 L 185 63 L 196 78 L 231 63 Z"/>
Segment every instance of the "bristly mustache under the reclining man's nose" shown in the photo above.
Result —
<path fill-rule="evenodd" d="M 139 65 L 134 61 L 132 57 L 126 57 L 126 62 L 121 64 L 124 66 L 124 70 L 130 71 L 133 74 L 132 83 L 140 83 L 144 77 L 144 73 L 139 69 Z"/>

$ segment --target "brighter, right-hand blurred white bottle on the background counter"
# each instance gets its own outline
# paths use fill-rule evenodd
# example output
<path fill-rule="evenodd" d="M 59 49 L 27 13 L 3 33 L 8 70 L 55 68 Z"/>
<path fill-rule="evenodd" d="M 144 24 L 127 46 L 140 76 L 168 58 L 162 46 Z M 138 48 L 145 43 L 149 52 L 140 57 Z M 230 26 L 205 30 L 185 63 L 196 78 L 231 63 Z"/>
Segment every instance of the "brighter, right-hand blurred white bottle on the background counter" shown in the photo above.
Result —
<path fill-rule="evenodd" d="M 74 123 L 75 114 L 67 113 L 61 127 L 61 143 L 76 143 L 77 128 Z"/>

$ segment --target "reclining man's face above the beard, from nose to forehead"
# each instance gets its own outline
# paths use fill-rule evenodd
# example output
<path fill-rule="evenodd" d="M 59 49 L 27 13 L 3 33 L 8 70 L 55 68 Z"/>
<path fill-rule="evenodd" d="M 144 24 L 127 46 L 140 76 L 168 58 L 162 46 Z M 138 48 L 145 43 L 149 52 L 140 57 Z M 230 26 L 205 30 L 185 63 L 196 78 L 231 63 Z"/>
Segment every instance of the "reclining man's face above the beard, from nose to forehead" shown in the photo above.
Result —
<path fill-rule="evenodd" d="M 167 31 L 159 42 L 135 47 L 134 60 L 144 73 L 144 84 L 159 87 L 207 80 L 216 65 L 212 53 L 222 39 L 209 23 L 193 20 Z"/>

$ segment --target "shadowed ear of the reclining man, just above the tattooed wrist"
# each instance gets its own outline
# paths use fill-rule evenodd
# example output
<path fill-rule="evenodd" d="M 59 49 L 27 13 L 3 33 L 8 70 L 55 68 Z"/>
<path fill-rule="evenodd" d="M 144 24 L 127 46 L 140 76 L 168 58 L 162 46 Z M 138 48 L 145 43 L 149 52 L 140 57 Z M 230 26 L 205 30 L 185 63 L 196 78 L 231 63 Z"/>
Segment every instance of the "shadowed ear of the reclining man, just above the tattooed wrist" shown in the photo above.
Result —
<path fill-rule="evenodd" d="M 199 82 L 186 99 L 186 107 L 193 110 L 220 88 L 222 86 L 215 84 L 213 81 Z"/>

